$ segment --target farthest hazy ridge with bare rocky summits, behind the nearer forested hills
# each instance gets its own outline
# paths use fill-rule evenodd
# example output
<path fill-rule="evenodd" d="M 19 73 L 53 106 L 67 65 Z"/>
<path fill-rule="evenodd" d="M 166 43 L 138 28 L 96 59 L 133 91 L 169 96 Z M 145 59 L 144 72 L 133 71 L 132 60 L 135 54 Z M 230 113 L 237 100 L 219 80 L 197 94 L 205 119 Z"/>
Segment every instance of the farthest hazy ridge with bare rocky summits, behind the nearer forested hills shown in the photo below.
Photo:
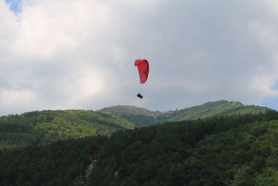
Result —
<path fill-rule="evenodd" d="M 266 107 L 244 105 L 240 102 L 220 100 L 216 102 L 206 102 L 205 104 L 201 104 L 199 106 L 175 111 L 149 111 L 140 107 L 119 105 L 101 109 L 99 112 L 122 116 L 139 127 L 143 127 L 169 121 L 194 120 L 197 118 L 208 118 L 231 114 L 257 114 L 259 112 L 265 112 L 266 110 L 268 110 Z"/>

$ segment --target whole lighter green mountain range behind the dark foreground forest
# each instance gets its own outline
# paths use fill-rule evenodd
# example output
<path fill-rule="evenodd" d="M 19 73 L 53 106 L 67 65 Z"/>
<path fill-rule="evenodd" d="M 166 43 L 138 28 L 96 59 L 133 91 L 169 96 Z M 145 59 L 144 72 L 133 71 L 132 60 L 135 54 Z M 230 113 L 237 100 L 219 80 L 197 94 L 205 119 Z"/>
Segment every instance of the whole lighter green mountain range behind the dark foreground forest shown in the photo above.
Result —
<path fill-rule="evenodd" d="M 164 112 L 133 106 L 114 106 L 99 111 L 31 111 L 0 117 L 0 149 L 49 144 L 57 140 L 94 135 L 110 136 L 117 130 L 134 129 L 136 126 L 231 114 L 256 114 L 267 110 L 265 107 L 220 100 Z"/>

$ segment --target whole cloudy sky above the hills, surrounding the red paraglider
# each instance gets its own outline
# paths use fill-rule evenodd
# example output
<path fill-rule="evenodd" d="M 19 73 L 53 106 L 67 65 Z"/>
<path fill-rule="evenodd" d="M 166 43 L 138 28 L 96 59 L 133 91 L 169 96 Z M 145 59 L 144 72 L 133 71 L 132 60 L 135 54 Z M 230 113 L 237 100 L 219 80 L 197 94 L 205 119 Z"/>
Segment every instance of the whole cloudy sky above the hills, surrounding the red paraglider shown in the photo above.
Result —
<path fill-rule="evenodd" d="M 273 0 L 0 0 L 0 116 L 216 100 L 277 110 L 277 9 Z M 149 61 L 145 84 L 136 59 Z"/>

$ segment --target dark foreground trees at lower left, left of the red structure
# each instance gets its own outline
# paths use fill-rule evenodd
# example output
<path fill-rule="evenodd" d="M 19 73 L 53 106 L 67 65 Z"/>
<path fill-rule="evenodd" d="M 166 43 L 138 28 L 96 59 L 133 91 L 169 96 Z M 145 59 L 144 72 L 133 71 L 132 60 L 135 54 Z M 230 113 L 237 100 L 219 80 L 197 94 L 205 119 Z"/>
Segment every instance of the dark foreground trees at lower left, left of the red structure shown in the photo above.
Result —
<path fill-rule="evenodd" d="M 87 137 L 0 150 L 0 185 L 81 185 L 90 164 L 89 155 L 106 140 Z"/>

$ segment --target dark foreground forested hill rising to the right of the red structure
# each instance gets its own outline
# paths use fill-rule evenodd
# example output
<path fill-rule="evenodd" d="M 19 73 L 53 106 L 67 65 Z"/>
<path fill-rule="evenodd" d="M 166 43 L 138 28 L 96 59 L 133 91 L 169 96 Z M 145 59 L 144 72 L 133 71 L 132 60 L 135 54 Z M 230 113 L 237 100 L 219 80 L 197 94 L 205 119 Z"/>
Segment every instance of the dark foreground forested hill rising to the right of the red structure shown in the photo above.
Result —
<path fill-rule="evenodd" d="M 278 185 L 278 113 L 116 132 L 88 185 Z"/>

